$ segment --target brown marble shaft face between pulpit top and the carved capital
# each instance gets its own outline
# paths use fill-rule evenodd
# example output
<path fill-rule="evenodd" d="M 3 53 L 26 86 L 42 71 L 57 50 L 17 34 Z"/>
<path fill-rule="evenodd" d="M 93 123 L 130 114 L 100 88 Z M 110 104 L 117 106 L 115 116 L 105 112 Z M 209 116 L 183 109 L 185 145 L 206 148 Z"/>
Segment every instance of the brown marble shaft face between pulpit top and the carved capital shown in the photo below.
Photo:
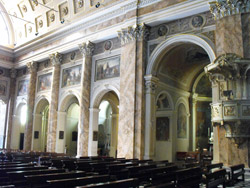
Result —
<path fill-rule="evenodd" d="M 243 57 L 243 41 L 240 14 L 216 21 L 216 55 L 236 53 Z"/>

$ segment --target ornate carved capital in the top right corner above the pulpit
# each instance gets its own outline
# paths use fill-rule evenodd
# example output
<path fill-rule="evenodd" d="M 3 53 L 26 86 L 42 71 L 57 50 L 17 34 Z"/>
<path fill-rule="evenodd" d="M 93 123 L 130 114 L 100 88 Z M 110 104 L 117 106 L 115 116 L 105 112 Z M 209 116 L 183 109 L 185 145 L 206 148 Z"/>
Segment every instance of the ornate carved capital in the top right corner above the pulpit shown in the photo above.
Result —
<path fill-rule="evenodd" d="M 210 11 L 215 19 L 250 12 L 250 0 L 217 0 L 210 2 Z"/>

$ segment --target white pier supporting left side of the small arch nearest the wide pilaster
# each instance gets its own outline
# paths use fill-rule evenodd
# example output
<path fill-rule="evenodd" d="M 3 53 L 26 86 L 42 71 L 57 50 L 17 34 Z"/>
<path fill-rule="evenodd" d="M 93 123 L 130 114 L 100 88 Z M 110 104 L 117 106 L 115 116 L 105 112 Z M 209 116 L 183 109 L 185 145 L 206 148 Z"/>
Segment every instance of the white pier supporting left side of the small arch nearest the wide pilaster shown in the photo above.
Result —
<path fill-rule="evenodd" d="M 94 131 L 98 131 L 98 117 L 99 117 L 99 108 L 90 108 L 90 118 L 89 124 L 89 146 L 88 146 L 88 155 L 97 156 L 98 150 L 98 140 L 93 140 Z"/>

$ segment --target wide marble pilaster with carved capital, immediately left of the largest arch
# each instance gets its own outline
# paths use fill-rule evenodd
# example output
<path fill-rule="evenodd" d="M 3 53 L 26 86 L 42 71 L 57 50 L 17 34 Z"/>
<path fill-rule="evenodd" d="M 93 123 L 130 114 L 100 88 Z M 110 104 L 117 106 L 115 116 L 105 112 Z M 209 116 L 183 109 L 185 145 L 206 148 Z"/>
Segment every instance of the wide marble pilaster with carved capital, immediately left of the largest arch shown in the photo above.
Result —
<path fill-rule="evenodd" d="M 121 63 L 120 63 L 120 103 L 119 103 L 119 129 L 118 129 L 118 156 L 133 158 L 135 157 L 135 140 L 141 146 L 141 125 L 135 126 L 136 114 L 136 68 L 137 68 L 137 39 L 140 34 L 143 35 L 143 26 L 134 25 L 118 31 L 118 37 L 121 39 Z M 141 67 L 139 67 L 141 68 Z M 138 103 L 140 106 L 141 101 Z M 141 116 L 141 114 L 138 114 Z M 138 116 L 138 117 L 139 117 Z M 141 122 L 137 121 L 138 124 Z M 136 129 L 136 130 L 135 130 Z M 135 132 L 139 138 L 135 138 Z M 126 144 L 124 144 L 126 143 Z M 141 155 L 140 148 L 136 147 Z M 137 156 L 140 157 L 140 156 Z"/>

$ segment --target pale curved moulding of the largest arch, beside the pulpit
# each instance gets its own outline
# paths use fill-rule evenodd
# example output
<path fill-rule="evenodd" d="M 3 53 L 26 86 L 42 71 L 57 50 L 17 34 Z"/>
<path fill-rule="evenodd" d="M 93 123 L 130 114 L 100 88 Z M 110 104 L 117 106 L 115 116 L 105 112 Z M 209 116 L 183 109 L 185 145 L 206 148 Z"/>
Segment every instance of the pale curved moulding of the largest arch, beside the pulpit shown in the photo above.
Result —
<path fill-rule="evenodd" d="M 162 57 L 175 46 L 182 44 L 182 43 L 193 43 L 205 50 L 208 54 L 210 62 L 212 63 L 216 55 L 214 53 L 214 44 L 208 40 L 207 38 L 201 38 L 197 35 L 191 34 L 179 34 L 174 35 L 173 37 L 168 38 L 167 40 L 160 43 L 156 49 L 153 51 L 152 55 L 149 58 L 149 63 L 146 69 L 146 75 L 155 75 L 156 70 L 160 64 Z"/>

